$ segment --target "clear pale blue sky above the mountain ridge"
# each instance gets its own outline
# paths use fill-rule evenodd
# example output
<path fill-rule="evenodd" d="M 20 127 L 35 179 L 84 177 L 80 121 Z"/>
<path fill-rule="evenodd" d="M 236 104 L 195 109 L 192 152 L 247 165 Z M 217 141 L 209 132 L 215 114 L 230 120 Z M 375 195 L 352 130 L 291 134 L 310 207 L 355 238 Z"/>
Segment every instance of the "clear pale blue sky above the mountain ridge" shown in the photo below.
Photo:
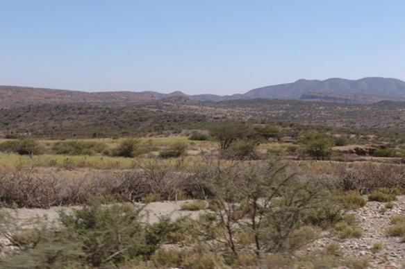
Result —
<path fill-rule="evenodd" d="M 402 0 L 0 0 L 0 85 L 231 94 L 405 80 Z"/>

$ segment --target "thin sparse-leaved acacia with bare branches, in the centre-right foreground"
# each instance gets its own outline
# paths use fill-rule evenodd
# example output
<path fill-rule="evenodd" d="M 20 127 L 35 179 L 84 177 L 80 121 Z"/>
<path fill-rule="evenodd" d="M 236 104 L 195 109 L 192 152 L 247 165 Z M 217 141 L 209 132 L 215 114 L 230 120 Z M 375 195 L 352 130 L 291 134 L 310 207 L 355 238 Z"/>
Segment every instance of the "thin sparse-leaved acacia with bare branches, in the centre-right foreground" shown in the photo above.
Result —
<path fill-rule="evenodd" d="M 318 236 L 317 228 L 308 228 L 305 218 L 327 199 L 322 182 L 301 180 L 279 164 L 236 164 L 217 171 L 210 182 L 213 215 L 206 231 L 233 254 L 251 248 L 241 243 L 241 234 L 251 238 L 259 257 L 263 252 L 295 250 Z M 294 238 L 299 232 L 303 239 L 297 242 Z"/>

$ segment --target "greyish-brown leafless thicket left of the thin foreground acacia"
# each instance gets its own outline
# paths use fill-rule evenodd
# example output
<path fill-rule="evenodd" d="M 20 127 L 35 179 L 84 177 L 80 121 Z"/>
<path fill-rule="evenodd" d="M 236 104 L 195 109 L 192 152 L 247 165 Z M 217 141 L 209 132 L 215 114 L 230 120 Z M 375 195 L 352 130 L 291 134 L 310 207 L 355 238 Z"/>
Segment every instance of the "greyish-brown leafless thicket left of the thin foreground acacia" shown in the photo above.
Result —
<path fill-rule="evenodd" d="M 81 205 L 90 198 L 105 202 L 137 202 L 151 195 L 156 197 L 154 200 L 176 200 L 178 194 L 203 198 L 203 179 L 200 171 L 174 171 L 156 160 L 138 164 L 138 169 L 132 171 L 97 178 L 67 179 L 53 173 L 19 172 L 0 176 L 0 202 L 8 207 L 49 208 Z"/>

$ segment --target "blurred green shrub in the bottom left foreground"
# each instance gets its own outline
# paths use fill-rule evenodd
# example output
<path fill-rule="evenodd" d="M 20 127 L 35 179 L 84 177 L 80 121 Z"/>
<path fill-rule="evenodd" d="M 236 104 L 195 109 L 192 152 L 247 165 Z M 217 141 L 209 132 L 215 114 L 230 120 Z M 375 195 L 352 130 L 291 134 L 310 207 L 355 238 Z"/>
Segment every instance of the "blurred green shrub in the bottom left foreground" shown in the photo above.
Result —
<path fill-rule="evenodd" d="M 167 219 L 147 225 L 140 218 L 140 208 L 131 204 L 91 202 L 69 214 L 62 211 L 60 229 L 0 267 L 119 268 L 127 261 L 148 259 L 176 227 Z"/>

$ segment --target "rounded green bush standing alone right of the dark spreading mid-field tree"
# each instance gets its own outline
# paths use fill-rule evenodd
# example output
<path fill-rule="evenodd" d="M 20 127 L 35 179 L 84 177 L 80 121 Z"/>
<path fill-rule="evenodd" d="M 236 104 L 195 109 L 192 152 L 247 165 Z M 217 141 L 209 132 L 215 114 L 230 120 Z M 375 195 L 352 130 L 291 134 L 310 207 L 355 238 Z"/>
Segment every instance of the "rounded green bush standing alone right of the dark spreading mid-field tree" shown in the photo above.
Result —
<path fill-rule="evenodd" d="M 322 133 L 309 133 L 299 141 L 304 144 L 305 153 L 313 159 L 329 159 L 332 154 L 332 147 L 335 145 L 333 137 Z"/>

